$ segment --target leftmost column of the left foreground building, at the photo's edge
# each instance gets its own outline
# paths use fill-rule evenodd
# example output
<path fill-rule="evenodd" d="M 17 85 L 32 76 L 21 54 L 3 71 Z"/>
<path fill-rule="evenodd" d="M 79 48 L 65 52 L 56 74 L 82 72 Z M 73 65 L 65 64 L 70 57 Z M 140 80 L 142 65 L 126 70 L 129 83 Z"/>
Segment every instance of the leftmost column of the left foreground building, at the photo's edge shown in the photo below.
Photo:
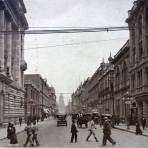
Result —
<path fill-rule="evenodd" d="M 5 12 L 0 10 L 0 31 L 5 31 Z M 0 32 L 0 72 L 4 73 L 4 32 Z"/>

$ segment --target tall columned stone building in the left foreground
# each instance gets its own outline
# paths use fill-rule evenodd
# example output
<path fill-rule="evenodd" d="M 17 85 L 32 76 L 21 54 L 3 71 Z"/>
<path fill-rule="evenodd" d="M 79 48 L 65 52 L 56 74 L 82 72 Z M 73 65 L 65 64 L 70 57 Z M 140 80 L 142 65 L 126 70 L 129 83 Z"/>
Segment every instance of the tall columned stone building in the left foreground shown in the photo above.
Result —
<path fill-rule="evenodd" d="M 24 116 L 24 34 L 28 28 L 23 0 L 0 0 L 0 124 Z"/>

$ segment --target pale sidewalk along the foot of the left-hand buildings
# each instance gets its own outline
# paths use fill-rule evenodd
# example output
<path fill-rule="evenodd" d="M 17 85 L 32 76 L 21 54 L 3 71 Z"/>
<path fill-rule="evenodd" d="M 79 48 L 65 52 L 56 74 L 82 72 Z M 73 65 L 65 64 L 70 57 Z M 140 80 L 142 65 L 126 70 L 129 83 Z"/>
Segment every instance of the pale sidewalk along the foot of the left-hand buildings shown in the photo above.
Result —
<path fill-rule="evenodd" d="M 38 126 L 44 124 L 45 122 L 47 122 L 48 120 L 51 120 L 51 119 L 45 119 L 44 121 L 39 121 L 38 122 Z M 25 128 L 26 124 L 23 123 L 21 126 L 20 125 L 15 125 L 15 128 L 16 128 L 16 133 L 19 134 L 21 132 L 24 131 L 24 128 Z M 3 128 L 3 127 L 0 127 L 0 140 L 3 140 L 7 138 L 7 127 Z"/>

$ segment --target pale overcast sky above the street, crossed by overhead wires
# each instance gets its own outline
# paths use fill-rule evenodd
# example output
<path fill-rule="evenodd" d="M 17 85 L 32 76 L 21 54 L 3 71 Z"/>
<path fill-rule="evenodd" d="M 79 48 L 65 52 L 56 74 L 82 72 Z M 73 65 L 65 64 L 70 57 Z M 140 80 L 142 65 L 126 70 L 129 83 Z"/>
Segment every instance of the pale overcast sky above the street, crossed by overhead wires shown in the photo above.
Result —
<path fill-rule="evenodd" d="M 127 26 L 133 0 L 24 0 L 31 27 Z M 128 31 L 25 36 L 25 73 L 39 73 L 57 93 L 72 93 L 114 56 Z M 75 44 L 76 43 L 76 44 Z M 72 44 L 72 45 L 67 45 Z M 44 47 L 44 48 L 40 48 Z M 71 99 L 65 94 L 65 104 Z"/>

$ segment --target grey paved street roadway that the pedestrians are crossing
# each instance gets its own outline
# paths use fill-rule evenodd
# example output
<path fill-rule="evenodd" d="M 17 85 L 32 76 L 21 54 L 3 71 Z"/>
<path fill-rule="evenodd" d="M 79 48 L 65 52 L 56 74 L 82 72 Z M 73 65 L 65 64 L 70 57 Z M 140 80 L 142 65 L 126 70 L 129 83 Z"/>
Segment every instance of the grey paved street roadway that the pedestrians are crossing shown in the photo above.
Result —
<path fill-rule="evenodd" d="M 88 130 L 85 128 L 79 129 L 78 142 L 70 143 L 70 119 L 68 126 L 56 126 L 56 120 L 47 120 L 39 127 L 38 138 L 40 141 L 40 147 L 85 147 L 85 148 L 98 148 L 102 147 L 102 129 L 97 126 L 97 137 L 99 142 L 95 142 L 93 137 L 90 137 L 89 142 L 86 142 L 86 136 L 88 135 Z M 26 138 L 26 133 L 22 132 L 17 135 L 19 146 L 23 146 Z M 132 133 L 120 131 L 117 129 L 112 130 L 112 137 L 116 140 L 117 144 L 112 146 L 107 143 L 106 147 L 114 148 L 146 148 L 148 146 L 148 137 L 135 135 Z M 1 140 L 0 147 L 10 147 L 9 140 Z"/>

